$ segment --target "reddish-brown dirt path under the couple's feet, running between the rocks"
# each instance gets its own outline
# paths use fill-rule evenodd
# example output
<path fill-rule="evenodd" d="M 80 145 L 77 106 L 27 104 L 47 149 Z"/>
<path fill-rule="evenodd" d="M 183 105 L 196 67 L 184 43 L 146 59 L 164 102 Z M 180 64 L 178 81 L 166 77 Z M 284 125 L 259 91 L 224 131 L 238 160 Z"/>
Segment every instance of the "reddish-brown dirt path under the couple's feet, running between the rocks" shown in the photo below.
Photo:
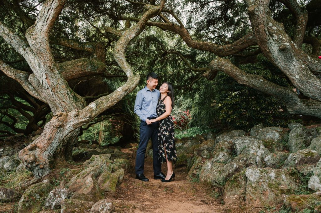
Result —
<path fill-rule="evenodd" d="M 213 198 L 213 192 L 186 180 L 185 168 L 175 168 L 175 181 L 162 183 L 153 179 L 152 159 L 146 158 L 144 175 L 149 181 L 143 182 L 135 179 L 134 160 L 130 159 L 129 174 L 117 191 L 117 212 L 222 212 L 220 200 Z M 162 165 L 162 171 L 166 174 L 166 164 Z"/>

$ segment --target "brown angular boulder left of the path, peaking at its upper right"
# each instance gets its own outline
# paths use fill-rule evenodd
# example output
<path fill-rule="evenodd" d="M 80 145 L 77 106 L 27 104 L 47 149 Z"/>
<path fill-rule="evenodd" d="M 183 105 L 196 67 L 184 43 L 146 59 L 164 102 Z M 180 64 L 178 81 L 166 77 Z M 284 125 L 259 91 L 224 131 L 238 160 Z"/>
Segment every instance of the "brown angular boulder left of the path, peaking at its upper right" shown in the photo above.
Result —
<path fill-rule="evenodd" d="M 100 174 L 100 166 L 89 167 L 72 177 L 66 185 L 72 198 L 86 201 L 97 201 L 100 198 L 100 188 L 96 177 Z"/>

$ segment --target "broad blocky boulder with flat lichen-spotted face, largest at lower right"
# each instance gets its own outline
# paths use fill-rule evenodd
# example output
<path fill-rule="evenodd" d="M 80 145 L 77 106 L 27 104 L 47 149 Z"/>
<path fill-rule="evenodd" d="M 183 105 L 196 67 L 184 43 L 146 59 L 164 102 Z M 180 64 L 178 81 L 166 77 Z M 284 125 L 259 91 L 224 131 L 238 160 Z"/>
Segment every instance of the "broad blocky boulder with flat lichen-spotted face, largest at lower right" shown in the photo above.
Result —
<path fill-rule="evenodd" d="M 246 203 L 257 206 L 278 206 L 286 195 L 300 187 L 299 177 L 291 169 L 247 168 Z"/>

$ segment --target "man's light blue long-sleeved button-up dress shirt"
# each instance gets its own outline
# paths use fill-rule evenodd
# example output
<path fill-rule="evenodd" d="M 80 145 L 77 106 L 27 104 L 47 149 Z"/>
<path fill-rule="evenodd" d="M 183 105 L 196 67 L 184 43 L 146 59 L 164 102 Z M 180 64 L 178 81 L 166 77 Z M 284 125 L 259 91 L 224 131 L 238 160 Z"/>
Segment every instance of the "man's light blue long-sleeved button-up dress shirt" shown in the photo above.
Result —
<path fill-rule="evenodd" d="M 144 122 L 146 122 L 147 118 L 157 117 L 156 106 L 159 96 L 159 90 L 150 91 L 147 86 L 137 93 L 134 112 Z"/>

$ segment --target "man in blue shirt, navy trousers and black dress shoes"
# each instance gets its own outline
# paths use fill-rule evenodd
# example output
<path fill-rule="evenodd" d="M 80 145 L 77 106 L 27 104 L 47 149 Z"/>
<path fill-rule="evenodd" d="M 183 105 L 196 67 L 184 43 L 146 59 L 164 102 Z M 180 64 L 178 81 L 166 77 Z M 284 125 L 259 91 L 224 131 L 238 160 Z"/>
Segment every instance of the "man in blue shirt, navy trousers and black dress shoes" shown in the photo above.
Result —
<path fill-rule="evenodd" d="M 151 72 L 146 77 L 146 86 L 137 93 L 134 112 L 141 119 L 140 123 L 140 141 L 136 154 L 136 179 L 148 181 L 144 176 L 144 161 L 145 152 L 149 139 L 152 139 L 153 148 L 153 170 L 154 179 L 165 179 L 165 175 L 161 172 L 160 160 L 158 159 L 158 122 L 150 122 L 150 119 L 155 119 L 156 106 L 160 91 L 156 88 L 158 77 Z"/>

